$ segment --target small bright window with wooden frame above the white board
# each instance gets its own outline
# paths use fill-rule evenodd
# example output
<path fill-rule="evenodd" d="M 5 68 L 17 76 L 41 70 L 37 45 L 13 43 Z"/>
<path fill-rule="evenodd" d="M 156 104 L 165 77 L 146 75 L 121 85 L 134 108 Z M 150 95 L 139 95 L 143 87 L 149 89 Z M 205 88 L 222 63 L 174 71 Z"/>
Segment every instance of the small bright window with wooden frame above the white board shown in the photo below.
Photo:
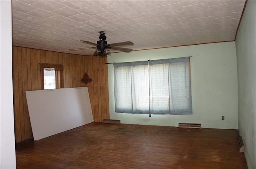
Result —
<path fill-rule="evenodd" d="M 63 65 L 41 63 L 42 89 L 63 88 Z"/>

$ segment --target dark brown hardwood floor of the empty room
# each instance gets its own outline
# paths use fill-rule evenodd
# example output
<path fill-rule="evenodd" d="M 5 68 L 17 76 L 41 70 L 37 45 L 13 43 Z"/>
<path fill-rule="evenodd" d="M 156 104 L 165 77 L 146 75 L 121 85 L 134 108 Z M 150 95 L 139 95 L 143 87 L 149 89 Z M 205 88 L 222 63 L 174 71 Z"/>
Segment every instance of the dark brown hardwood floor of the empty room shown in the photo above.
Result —
<path fill-rule="evenodd" d="M 96 122 L 17 143 L 16 164 L 17 169 L 247 169 L 238 130 Z"/>

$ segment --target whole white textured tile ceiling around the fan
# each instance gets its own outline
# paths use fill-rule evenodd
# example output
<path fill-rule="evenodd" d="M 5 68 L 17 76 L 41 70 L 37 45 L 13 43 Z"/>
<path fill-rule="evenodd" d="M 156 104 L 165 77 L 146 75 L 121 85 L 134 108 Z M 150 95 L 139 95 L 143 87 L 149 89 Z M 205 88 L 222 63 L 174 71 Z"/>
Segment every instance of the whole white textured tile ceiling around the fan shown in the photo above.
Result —
<path fill-rule="evenodd" d="M 98 31 L 134 50 L 234 41 L 245 0 L 12 0 L 13 45 L 92 55 Z M 118 52 L 118 51 L 112 51 Z"/>

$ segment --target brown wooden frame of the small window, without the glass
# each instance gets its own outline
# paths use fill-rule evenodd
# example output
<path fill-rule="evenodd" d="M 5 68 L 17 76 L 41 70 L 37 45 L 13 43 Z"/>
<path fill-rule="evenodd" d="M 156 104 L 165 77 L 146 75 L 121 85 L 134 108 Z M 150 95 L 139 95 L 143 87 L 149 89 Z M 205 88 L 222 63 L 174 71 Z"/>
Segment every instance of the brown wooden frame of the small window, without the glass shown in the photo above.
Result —
<path fill-rule="evenodd" d="M 41 86 L 42 90 L 44 89 L 44 68 L 54 68 L 55 69 L 55 80 L 58 79 L 56 78 L 57 75 L 59 74 L 59 83 L 56 83 L 56 88 L 64 88 L 64 78 L 63 78 L 63 70 L 64 67 L 61 64 L 52 64 L 52 63 L 40 63 L 41 67 Z M 57 73 L 59 72 L 59 73 Z M 55 88 L 55 89 L 56 89 Z"/>

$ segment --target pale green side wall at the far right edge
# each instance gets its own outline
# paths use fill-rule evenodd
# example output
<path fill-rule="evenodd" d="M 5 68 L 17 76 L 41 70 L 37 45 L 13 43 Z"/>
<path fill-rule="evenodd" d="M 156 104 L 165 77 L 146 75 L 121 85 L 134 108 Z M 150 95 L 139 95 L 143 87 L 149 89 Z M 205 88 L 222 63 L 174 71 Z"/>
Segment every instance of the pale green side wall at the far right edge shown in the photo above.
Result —
<path fill-rule="evenodd" d="M 256 169 L 256 1 L 248 0 L 236 36 L 238 130 L 249 169 Z"/>

